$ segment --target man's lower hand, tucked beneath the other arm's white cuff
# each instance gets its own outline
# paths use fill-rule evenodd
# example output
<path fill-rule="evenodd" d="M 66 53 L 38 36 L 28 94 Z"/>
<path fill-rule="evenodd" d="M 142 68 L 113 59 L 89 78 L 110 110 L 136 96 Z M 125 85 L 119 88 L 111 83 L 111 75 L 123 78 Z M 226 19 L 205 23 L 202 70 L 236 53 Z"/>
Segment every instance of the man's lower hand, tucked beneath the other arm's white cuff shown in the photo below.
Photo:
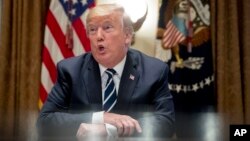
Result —
<path fill-rule="evenodd" d="M 107 136 L 107 131 L 104 124 L 81 123 L 76 136 L 78 140 L 84 140 L 92 137 L 105 137 Z"/>

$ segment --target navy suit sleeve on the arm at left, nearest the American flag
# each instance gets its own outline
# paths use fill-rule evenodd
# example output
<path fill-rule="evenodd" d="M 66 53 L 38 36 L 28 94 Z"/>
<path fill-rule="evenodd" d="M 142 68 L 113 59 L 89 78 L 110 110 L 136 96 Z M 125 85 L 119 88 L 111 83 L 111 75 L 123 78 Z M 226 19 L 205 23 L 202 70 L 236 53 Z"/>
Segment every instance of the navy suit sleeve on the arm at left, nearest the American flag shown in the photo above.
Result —
<path fill-rule="evenodd" d="M 43 105 L 37 120 L 41 136 L 75 136 L 81 123 L 91 122 L 92 113 L 69 112 L 71 99 L 71 80 L 58 63 L 57 82 Z"/>

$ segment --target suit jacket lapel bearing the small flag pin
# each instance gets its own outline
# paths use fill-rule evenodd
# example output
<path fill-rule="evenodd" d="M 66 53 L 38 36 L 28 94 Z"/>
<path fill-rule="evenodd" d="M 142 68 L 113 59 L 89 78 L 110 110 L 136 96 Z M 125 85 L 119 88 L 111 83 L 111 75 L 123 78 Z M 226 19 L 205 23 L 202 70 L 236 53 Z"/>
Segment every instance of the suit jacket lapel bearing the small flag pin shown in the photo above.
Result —
<path fill-rule="evenodd" d="M 124 66 L 123 74 L 120 80 L 120 87 L 118 92 L 118 99 L 114 109 L 126 110 L 127 104 L 131 102 L 131 97 L 137 81 L 139 79 L 139 73 L 136 70 L 136 60 L 129 52 L 127 60 Z"/>

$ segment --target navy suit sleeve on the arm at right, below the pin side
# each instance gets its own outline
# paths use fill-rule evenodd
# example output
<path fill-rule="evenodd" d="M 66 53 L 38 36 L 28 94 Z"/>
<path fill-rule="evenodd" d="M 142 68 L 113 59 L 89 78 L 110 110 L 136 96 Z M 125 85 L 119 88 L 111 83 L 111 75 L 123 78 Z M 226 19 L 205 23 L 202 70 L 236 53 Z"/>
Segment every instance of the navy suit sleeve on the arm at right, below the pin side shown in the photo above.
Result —
<path fill-rule="evenodd" d="M 168 88 L 168 71 L 165 65 L 154 86 L 154 112 L 139 119 L 145 137 L 171 137 L 174 133 L 174 104 Z"/>

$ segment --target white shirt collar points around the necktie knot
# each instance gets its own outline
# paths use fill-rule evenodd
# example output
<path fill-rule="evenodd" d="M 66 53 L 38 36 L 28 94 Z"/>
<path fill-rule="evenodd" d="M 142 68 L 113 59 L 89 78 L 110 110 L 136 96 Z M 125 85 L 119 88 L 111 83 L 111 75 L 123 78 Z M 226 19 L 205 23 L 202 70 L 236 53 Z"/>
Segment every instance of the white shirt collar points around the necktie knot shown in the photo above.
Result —
<path fill-rule="evenodd" d="M 122 59 L 121 62 L 119 62 L 115 67 L 113 67 L 113 69 L 116 71 L 116 73 L 118 74 L 119 77 L 122 76 L 122 72 L 123 72 L 123 69 L 124 69 L 124 66 L 125 66 L 125 62 L 126 62 L 126 58 L 127 58 L 127 55 Z M 100 68 L 100 74 L 101 76 L 103 76 L 103 73 L 106 71 L 106 67 L 104 67 L 103 65 L 99 64 L 99 68 Z"/>

